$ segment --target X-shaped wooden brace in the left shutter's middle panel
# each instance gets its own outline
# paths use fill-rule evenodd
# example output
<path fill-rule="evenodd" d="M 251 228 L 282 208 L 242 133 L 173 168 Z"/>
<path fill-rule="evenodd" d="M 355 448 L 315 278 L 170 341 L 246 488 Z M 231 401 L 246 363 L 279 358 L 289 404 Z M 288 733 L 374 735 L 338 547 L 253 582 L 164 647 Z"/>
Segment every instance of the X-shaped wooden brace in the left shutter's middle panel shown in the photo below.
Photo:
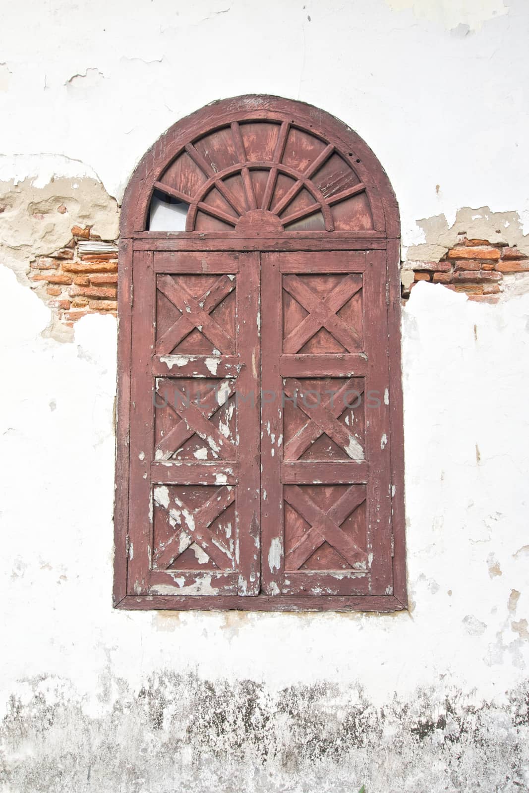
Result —
<path fill-rule="evenodd" d="M 218 385 L 206 394 L 205 399 L 201 398 L 198 403 L 195 403 L 189 395 L 171 383 L 174 390 L 174 404 L 167 400 L 167 409 L 181 420 L 159 441 L 155 449 L 155 459 L 168 460 L 171 454 L 174 454 L 182 446 L 182 443 L 185 443 L 193 435 L 198 435 L 202 440 L 205 440 L 217 457 L 224 460 L 235 460 L 235 447 L 209 420 L 232 396 L 235 383 L 236 381 L 233 380 L 219 381 Z M 165 410 L 165 397 L 158 390 L 156 390 L 156 394 L 163 400 L 163 409 Z"/>

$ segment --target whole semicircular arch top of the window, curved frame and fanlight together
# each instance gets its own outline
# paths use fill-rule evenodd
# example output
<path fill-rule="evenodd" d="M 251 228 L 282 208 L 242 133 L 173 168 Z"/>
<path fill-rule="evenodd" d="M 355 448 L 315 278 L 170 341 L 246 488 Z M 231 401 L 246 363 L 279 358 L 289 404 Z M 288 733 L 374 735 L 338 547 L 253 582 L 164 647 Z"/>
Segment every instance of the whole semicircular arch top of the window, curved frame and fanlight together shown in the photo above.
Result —
<path fill-rule="evenodd" d="M 164 201 L 182 217 L 178 236 L 400 235 L 370 147 L 329 113 L 279 97 L 213 102 L 172 125 L 128 182 L 121 237 L 171 231 L 152 222 Z"/>

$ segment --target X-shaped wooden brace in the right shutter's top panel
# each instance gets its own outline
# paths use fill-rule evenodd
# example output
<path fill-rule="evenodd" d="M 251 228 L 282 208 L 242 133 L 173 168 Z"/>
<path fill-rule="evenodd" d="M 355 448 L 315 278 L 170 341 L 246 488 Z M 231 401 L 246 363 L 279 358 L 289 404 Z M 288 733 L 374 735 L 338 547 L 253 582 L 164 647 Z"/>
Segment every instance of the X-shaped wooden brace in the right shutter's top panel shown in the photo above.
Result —
<path fill-rule="evenodd" d="M 283 289 L 309 312 L 297 328 L 286 336 L 283 341 L 283 351 L 287 354 L 297 353 L 320 328 L 326 328 L 347 351 L 358 350 L 360 347 L 358 334 L 336 313 L 362 289 L 358 275 L 351 274 L 343 278 L 323 300 L 297 275 L 284 276 Z"/>

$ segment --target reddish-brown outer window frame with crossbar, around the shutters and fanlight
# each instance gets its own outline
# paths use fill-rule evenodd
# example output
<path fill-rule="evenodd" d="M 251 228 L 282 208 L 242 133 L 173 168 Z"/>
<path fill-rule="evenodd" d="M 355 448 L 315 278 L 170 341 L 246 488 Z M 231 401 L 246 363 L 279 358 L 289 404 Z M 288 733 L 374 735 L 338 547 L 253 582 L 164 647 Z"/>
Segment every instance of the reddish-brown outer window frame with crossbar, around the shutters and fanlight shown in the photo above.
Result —
<path fill-rule="evenodd" d="M 251 109 L 248 107 L 251 105 Z M 363 177 L 370 191 L 371 205 L 378 205 L 384 228 L 374 232 L 286 232 L 281 238 L 259 232 L 146 232 L 149 201 L 160 168 L 174 159 L 186 140 L 218 128 L 226 121 L 258 117 L 289 118 L 293 123 L 315 128 L 316 134 L 339 141 L 354 152 L 357 162 L 366 166 Z M 155 152 L 155 154 L 153 153 Z M 258 236 L 259 235 L 259 236 Z M 387 266 L 386 304 L 389 327 L 389 381 L 391 389 L 391 483 L 393 524 L 393 594 L 300 598 L 295 596 L 191 596 L 189 603 L 171 600 L 170 596 L 134 596 L 127 594 L 128 474 L 130 448 L 130 385 L 132 305 L 134 301 L 132 270 L 135 252 L 140 251 L 385 251 Z M 114 588 L 113 604 L 125 609 L 204 609 L 236 608 L 250 611 L 400 611 L 407 607 L 404 540 L 404 434 L 401 393 L 401 288 L 400 243 L 397 202 L 380 163 L 366 144 L 349 128 L 318 109 L 299 102 L 270 97 L 243 97 L 207 106 L 179 121 L 155 144 L 137 167 L 125 192 L 121 214 L 121 238 L 118 267 L 118 389 L 117 389 L 117 463 L 114 509 Z M 310 602 L 316 601 L 316 602 Z"/>

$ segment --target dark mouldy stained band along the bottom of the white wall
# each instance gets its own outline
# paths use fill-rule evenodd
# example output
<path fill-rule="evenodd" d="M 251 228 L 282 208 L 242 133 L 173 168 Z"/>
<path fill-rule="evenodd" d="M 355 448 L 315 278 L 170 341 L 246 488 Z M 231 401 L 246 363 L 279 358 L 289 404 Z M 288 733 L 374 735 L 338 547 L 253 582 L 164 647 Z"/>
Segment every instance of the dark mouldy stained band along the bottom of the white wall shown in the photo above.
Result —
<path fill-rule="evenodd" d="M 501 705 L 458 691 L 437 701 L 431 688 L 375 707 L 362 688 L 324 683 L 272 691 L 172 672 L 136 692 L 107 683 L 96 718 L 66 681 L 21 681 L 0 727 L 2 790 L 527 790 L 527 686 Z"/>

